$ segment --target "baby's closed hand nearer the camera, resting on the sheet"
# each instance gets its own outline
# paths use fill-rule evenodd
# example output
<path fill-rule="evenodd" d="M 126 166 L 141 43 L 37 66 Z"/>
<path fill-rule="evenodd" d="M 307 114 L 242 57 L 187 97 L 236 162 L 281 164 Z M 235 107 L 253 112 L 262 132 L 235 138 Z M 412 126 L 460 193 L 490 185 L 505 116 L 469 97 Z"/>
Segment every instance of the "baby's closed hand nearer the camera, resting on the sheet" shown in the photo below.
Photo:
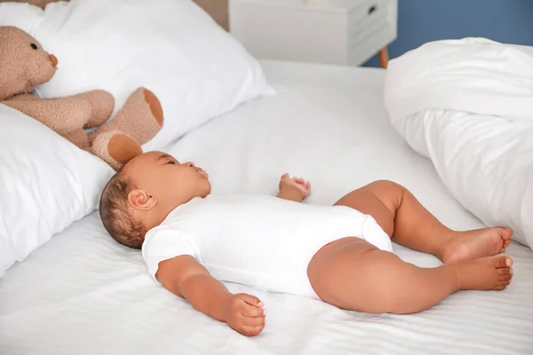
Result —
<path fill-rule="evenodd" d="M 263 303 L 256 296 L 236 294 L 228 298 L 225 320 L 242 335 L 258 335 L 265 327 Z"/>

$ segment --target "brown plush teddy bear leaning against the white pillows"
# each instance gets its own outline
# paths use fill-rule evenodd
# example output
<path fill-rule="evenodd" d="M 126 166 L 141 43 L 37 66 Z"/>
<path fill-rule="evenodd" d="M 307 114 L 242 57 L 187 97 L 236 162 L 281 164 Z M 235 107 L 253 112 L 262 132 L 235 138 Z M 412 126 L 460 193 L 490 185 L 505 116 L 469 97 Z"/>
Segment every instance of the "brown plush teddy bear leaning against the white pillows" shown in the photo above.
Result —
<path fill-rule="evenodd" d="M 118 170 L 142 153 L 140 146 L 163 126 L 163 109 L 154 93 L 133 91 L 115 118 L 115 99 L 107 91 L 88 91 L 58 99 L 30 92 L 52 79 L 58 59 L 20 28 L 0 27 L 0 103 L 35 118 L 81 149 Z M 91 133 L 86 129 L 96 128 Z"/>

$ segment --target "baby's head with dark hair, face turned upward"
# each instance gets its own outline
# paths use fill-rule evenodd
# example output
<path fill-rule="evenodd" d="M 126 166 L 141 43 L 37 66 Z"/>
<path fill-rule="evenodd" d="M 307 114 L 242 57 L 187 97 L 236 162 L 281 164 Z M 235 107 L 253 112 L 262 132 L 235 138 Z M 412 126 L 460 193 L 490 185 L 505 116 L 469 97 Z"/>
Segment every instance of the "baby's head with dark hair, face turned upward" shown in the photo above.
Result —
<path fill-rule="evenodd" d="M 109 180 L 99 213 L 115 241 L 141 248 L 147 231 L 160 225 L 172 209 L 209 193 L 208 175 L 195 164 L 149 152 L 131 159 Z"/>

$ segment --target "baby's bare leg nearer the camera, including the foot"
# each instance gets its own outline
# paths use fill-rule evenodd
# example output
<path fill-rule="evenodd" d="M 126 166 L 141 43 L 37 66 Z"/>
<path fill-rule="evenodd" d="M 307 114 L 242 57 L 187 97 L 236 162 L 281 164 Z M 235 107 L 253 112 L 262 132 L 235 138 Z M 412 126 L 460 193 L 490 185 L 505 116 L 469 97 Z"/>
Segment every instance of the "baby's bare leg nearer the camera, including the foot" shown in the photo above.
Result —
<path fill-rule="evenodd" d="M 489 256 L 425 269 L 404 263 L 359 238 L 321 248 L 307 268 L 314 291 L 339 308 L 369 313 L 414 313 L 460 289 L 504 289 L 512 278 L 508 256 Z"/>

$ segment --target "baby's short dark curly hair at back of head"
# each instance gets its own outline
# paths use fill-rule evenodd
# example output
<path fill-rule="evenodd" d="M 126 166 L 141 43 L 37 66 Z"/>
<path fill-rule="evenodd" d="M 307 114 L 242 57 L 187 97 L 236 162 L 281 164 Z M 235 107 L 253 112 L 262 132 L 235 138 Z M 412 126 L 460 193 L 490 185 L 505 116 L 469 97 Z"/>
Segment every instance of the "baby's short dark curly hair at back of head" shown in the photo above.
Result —
<path fill-rule="evenodd" d="M 122 170 L 109 180 L 99 203 L 99 214 L 107 233 L 126 247 L 140 249 L 147 233 L 146 226 L 135 221 L 128 203 L 128 194 L 137 186 Z"/>

